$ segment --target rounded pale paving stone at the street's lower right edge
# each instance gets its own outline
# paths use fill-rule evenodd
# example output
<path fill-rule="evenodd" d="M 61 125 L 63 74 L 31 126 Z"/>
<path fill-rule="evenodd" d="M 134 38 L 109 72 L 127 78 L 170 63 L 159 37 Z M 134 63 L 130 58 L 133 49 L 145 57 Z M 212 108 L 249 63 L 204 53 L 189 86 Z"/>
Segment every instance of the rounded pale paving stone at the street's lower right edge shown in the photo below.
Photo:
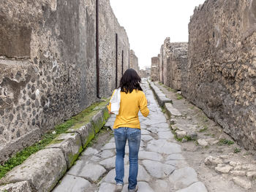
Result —
<path fill-rule="evenodd" d="M 170 183 L 173 184 L 174 189 L 187 188 L 192 183 L 197 182 L 197 173 L 192 167 L 184 167 L 177 169 L 169 177 Z"/>

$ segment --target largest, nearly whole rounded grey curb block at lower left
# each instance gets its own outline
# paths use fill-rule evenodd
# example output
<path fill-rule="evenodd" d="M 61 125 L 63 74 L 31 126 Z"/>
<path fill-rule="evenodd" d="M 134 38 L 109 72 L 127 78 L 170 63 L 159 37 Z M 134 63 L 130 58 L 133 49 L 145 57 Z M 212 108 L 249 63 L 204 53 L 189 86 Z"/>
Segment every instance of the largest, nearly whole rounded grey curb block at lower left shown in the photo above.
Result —
<path fill-rule="evenodd" d="M 26 180 L 32 191 L 51 191 L 67 171 L 67 162 L 61 149 L 48 148 L 34 153 L 23 164 L 16 166 L 0 180 L 16 183 Z"/>

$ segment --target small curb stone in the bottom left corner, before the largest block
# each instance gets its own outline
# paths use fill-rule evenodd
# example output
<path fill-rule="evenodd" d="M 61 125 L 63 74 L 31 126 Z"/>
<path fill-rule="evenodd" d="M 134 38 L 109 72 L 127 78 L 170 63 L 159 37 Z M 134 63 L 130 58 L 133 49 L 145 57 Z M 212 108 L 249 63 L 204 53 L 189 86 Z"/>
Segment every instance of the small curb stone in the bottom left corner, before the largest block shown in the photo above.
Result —
<path fill-rule="evenodd" d="M 21 181 L 18 183 L 10 183 L 7 185 L 1 185 L 0 191 L 12 191 L 12 192 L 32 192 L 32 189 L 28 181 Z"/>

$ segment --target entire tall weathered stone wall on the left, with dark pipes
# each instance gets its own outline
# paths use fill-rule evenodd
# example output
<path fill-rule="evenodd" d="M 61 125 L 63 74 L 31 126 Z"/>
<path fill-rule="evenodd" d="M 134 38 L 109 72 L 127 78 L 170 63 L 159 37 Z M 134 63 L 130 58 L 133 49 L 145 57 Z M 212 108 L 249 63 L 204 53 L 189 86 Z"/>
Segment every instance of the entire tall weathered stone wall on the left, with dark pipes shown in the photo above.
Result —
<path fill-rule="evenodd" d="M 0 45 L 0 164 L 109 96 L 129 68 L 109 0 L 2 0 Z"/>

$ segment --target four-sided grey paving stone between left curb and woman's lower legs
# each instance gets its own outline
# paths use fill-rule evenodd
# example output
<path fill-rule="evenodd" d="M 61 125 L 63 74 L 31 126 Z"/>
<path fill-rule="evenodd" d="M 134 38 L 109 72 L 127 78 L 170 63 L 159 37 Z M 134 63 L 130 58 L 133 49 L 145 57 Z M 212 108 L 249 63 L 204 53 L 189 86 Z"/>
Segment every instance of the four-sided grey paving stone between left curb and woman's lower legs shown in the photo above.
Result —
<path fill-rule="evenodd" d="M 88 161 L 78 160 L 69 170 L 68 174 L 83 177 L 86 180 L 95 182 L 105 174 L 106 169 L 98 164 L 90 164 Z"/>

